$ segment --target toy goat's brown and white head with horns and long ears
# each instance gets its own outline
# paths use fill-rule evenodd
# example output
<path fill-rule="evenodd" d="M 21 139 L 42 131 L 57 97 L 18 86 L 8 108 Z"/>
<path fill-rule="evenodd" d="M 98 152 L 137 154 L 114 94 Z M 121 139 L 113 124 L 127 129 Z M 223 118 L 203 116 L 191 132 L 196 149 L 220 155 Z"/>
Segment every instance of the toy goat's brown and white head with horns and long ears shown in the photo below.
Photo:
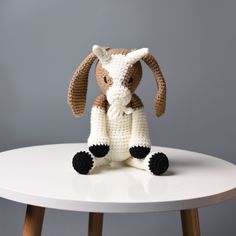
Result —
<path fill-rule="evenodd" d="M 110 116 L 118 113 L 120 109 L 116 108 L 130 103 L 142 78 L 140 60 L 143 60 L 152 70 L 159 87 L 154 99 L 154 109 L 156 115 L 161 116 L 165 111 L 166 84 L 157 61 L 148 51 L 148 48 L 135 50 L 93 46 L 92 53 L 77 68 L 70 83 L 68 103 L 73 114 L 77 117 L 84 114 L 89 70 L 96 59 L 96 81 L 101 92 L 106 95 Z"/>

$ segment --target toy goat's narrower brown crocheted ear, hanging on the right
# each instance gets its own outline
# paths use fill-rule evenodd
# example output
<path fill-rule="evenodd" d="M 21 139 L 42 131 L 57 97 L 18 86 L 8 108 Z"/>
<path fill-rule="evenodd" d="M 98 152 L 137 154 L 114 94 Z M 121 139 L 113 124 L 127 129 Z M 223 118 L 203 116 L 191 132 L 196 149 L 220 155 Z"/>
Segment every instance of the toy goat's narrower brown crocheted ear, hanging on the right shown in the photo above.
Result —
<path fill-rule="evenodd" d="M 156 59 L 151 55 L 147 54 L 144 56 L 143 61 L 152 70 L 155 80 L 158 86 L 158 91 L 154 99 L 154 109 L 156 116 L 159 117 L 165 112 L 166 107 L 166 82 L 161 73 L 161 69 L 156 61 Z"/>

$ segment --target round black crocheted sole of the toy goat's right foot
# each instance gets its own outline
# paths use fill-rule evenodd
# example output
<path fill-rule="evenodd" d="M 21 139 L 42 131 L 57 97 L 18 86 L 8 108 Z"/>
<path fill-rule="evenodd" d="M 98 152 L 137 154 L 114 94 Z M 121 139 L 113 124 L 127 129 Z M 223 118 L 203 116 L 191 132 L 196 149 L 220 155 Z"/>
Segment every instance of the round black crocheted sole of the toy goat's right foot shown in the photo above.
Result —
<path fill-rule="evenodd" d="M 168 169 L 169 161 L 164 153 L 158 152 L 152 155 L 148 166 L 154 175 L 161 175 Z"/>

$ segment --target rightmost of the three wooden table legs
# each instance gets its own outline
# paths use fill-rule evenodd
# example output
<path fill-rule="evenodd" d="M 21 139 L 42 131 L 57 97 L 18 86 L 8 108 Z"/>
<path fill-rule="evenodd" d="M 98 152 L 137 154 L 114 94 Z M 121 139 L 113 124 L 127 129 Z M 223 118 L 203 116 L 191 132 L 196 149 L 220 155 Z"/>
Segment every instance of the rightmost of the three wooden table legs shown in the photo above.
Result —
<path fill-rule="evenodd" d="M 183 236 L 201 236 L 198 209 L 181 210 Z"/>

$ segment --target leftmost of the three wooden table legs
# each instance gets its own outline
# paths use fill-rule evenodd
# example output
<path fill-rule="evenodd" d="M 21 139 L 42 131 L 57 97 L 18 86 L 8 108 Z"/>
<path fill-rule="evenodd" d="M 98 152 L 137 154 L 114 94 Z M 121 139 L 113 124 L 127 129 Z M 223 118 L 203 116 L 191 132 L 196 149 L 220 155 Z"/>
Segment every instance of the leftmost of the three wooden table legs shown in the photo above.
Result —
<path fill-rule="evenodd" d="M 27 205 L 23 236 L 40 236 L 43 226 L 44 207 Z"/>

